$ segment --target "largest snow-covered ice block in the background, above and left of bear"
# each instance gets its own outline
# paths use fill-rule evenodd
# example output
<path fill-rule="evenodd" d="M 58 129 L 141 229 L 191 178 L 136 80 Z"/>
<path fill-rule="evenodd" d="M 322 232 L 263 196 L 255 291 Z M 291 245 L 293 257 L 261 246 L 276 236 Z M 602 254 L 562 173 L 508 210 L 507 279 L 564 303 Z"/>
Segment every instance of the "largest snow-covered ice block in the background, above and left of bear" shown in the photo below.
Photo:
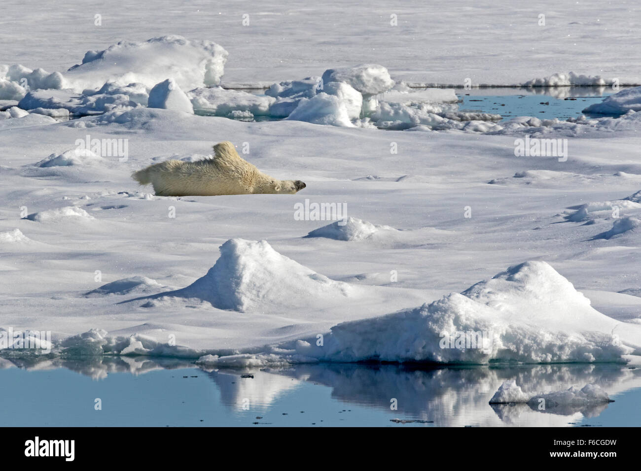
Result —
<path fill-rule="evenodd" d="M 167 78 L 184 90 L 192 90 L 219 85 L 227 56 L 215 42 L 178 35 L 121 41 L 104 51 L 87 51 L 82 63 L 65 72 L 64 78 L 78 92 L 99 88 L 106 81 L 142 83 L 151 88 Z"/>

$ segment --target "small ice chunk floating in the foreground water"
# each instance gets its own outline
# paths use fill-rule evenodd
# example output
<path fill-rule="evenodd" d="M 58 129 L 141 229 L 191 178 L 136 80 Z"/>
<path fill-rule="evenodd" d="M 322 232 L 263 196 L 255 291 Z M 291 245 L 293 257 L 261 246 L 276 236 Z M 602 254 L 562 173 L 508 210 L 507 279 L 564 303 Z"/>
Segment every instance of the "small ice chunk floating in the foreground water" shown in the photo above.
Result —
<path fill-rule="evenodd" d="M 610 399 L 608 393 L 601 386 L 594 383 L 586 384 L 580 390 L 576 386 L 572 386 L 564 391 L 553 391 L 533 396 L 524 393 L 517 386 L 516 381 L 512 380 L 501 384 L 499 390 L 490 399 L 490 404 L 508 404 L 510 402 L 517 404 L 527 403 L 534 406 L 543 404 L 544 408 L 548 409 L 558 406 L 582 407 L 592 404 L 607 404 L 614 401 Z"/>

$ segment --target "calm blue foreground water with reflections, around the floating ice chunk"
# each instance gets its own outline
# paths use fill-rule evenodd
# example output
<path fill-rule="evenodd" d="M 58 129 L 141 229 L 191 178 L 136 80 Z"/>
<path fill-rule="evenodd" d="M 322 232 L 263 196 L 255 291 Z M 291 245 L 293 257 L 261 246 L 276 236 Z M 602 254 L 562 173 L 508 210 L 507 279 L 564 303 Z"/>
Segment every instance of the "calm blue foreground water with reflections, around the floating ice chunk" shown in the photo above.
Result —
<path fill-rule="evenodd" d="M 413 370 L 324 364 L 249 371 L 203 370 L 187 361 L 145 357 L 0 362 L 3 423 L 15 426 L 641 424 L 641 368 L 621 365 Z M 515 379 L 527 392 L 596 382 L 615 402 L 547 411 L 524 404 L 490 406 L 506 379 Z M 101 410 L 95 409 L 96 399 Z M 396 410 L 390 409 L 392 402 Z M 392 422 L 395 418 L 421 422 L 399 424 Z"/>

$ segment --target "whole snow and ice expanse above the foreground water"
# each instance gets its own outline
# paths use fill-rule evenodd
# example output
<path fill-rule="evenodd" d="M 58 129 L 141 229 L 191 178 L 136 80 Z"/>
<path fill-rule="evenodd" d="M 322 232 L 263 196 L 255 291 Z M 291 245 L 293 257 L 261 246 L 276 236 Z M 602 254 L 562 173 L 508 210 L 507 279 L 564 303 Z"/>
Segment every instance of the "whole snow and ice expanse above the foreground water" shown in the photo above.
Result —
<path fill-rule="evenodd" d="M 86 21 L 67 0 L 40 17 L 5 4 L 0 326 L 51 330 L 56 352 L 214 366 L 638 362 L 641 308 L 620 293 L 640 284 L 638 92 L 604 100 L 617 118 L 498 123 L 460 110 L 452 89 L 466 78 L 638 85 L 638 48 L 608 45 L 635 39 L 625 5 L 544 2 L 542 28 L 527 10 L 487 1 L 444 4 L 438 21 L 408 4 L 392 26 L 378 0 L 365 10 L 267 0 L 273 14 L 250 12 L 244 27 L 236 4 L 147 24 L 144 9 L 162 4 L 116 2 L 101 8 L 118 22 L 60 47 L 60 31 Z M 42 21 L 62 8 L 68 16 Z M 233 83 L 270 87 L 263 96 Z M 418 83 L 449 87 L 409 87 Z M 77 153 L 89 133 L 126 140 L 129 158 Z M 515 156 L 525 136 L 567 138 L 567 160 Z M 221 140 L 307 187 L 176 198 L 129 178 L 206 158 Z M 297 219 L 305 199 L 346 204 L 349 217 Z M 444 330 L 490 343 L 442 348 Z"/>

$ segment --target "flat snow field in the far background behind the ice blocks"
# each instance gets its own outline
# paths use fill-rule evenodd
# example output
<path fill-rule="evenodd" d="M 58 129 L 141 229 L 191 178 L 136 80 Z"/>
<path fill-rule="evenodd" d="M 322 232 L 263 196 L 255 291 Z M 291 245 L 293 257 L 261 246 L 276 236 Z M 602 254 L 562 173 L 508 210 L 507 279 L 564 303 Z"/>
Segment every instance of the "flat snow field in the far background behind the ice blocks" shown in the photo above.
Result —
<path fill-rule="evenodd" d="M 75 0 L 55 4 L 4 0 L 0 63 L 64 74 L 88 49 L 101 51 L 121 39 L 144 44 L 167 32 L 224 46 L 229 51 L 223 78 L 227 84 L 269 87 L 275 81 L 320 75 L 329 68 L 378 63 L 395 80 L 410 83 L 462 85 L 470 78 L 474 85 L 520 85 L 571 70 L 579 76 L 600 76 L 608 85 L 612 78 L 641 85 L 641 71 L 633 66 L 641 63 L 641 51 L 635 47 L 638 19 L 631 14 L 636 3 L 630 0 L 608 8 L 597 0 L 543 0 L 536 8 L 505 8 L 490 0 L 438 6 L 413 0 L 393 7 L 384 0 L 372 0 L 365 9 L 360 3 L 338 0 L 317 4 L 265 0 L 260 6 L 222 0 L 215 8 L 199 2 L 173 10 L 167 10 L 167 5 L 161 0 L 113 1 L 101 5 L 99 12 L 87 12 L 77 8 Z M 149 12 L 171 13 L 145 21 Z M 96 13 L 102 26 L 94 24 Z M 545 26 L 539 24 L 540 13 L 545 14 Z M 249 15 L 248 26 L 243 24 L 244 14 Z M 391 15 L 396 15 L 397 26 L 392 26 Z M 81 34 L 65 38 L 65 46 L 60 47 L 61 31 L 85 27 Z M 38 34 L 25 35 L 25 31 Z M 157 58 L 156 51 L 165 52 L 164 45 L 154 50 Z M 124 54 L 126 47 L 115 52 Z M 201 57 L 199 51 L 193 53 Z M 171 57 L 167 63 L 176 60 L 180 58 Z M 185 70 L 183 62 L 176 65 L 177 72 Z M 113 72 L 120 75 L 129 69 L 123 66 Z M 89 70 L 87 74 L 91 79 Z M 155 75 L 153 70 L 150 74 Z M 156 77 L 147 86 L 167 78 Z M 96 87 L 104 83 L 100 80 Z M 197 87 L 178 83 L 183 90 Z"/>

